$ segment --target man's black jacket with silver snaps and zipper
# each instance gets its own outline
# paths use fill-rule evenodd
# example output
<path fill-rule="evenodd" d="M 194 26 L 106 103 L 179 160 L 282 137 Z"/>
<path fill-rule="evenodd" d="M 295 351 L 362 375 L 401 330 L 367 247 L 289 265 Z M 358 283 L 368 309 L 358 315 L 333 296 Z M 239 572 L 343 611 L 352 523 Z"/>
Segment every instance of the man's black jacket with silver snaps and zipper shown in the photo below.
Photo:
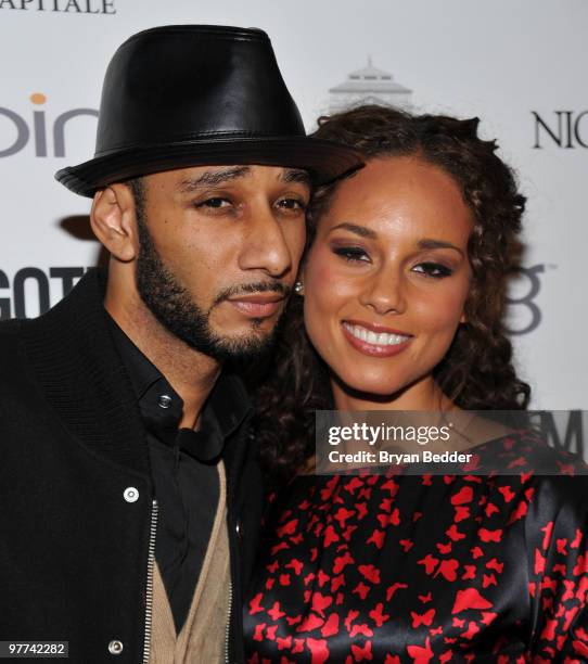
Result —
<path fill-rule="evenodd" d="M 44 316 L 0 323 L 0 640 L 64 640 L 75 664 L 137 664 L 148 657 L 153 486 L 103 289 L 90 272 Z M 241 429 L 225 447 L 230 662 L 243 661 L 261 509 L 253 456 Z"/>

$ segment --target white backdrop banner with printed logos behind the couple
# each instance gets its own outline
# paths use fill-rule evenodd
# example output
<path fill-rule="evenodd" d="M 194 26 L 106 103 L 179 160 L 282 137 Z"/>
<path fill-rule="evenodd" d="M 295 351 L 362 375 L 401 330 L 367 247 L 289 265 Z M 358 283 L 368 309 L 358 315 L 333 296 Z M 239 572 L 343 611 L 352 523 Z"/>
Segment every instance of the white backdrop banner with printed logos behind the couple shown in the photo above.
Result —
<path fill-rule="evenodd" d="M 268 31 L 309 130 L 361 101 L 478 116 L 528 196 L 520 372 L 534 408 L 588 409 L 585 0 L 0 0 L 0 319 L 46 311 L 104 259 L 89 201 L 53 174 L 92 156 L 119 43 L 175 23 Z"/>

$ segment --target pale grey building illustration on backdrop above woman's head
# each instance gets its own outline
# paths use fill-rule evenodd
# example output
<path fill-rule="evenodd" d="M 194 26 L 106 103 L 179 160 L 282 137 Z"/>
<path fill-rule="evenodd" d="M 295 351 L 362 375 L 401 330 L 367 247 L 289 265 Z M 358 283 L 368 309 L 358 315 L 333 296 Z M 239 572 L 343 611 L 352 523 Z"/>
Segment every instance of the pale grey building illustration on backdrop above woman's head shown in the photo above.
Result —
<path fill-rule="evenodd" d="M 410 111 L 412 90 L 394 80 L 388 72 L 373 66 L 368 58 L 368 66 L 351 72 L 347 80 L 329 90 L 329 112 L 338 113 L 361 104 L 383 104 Z"/>

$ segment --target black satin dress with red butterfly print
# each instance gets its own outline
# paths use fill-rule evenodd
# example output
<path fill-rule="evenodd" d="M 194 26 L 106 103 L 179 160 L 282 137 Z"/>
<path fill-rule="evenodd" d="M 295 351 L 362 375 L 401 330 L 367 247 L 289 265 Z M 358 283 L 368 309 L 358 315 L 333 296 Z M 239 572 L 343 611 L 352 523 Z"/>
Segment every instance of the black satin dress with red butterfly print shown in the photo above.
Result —
<path fill-rule="evenodd" d="M 298 476 L 244 609 L 250 664 L 588 662 L 588 477 Z"/>

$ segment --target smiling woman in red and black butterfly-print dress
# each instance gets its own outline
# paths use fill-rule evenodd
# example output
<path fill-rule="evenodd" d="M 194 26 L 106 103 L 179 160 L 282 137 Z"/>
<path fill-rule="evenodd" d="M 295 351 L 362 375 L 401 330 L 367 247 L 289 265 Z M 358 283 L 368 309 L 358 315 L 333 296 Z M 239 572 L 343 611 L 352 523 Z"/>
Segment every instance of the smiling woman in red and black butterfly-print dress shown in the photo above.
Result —
<path fill-rule="evenodd" d="M 320 124 L 366 166 L 315 196 L 259 397 L 282 489 L 245 606 L 252 663 L 588 661 L 587 491 L 532 472 L 529 433 L 476 439 L 514 476 L 312 474 L 315 409 L 526 408 L 501 327 L 524 199 L 476 131 L 379 106 Z"/>

